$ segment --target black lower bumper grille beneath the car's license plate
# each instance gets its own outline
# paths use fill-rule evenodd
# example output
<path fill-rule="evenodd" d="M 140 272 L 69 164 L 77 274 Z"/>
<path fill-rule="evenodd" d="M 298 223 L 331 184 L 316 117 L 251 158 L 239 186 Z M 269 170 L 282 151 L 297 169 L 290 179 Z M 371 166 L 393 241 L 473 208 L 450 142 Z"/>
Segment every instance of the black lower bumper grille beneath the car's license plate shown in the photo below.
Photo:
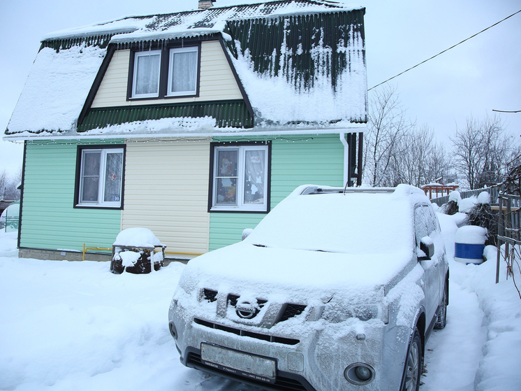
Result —
<path fill-rule="evenodd" d="M 236 381 L 241 381 L 244 383 L 254 384 L 258 385 L 261 388 L 265 388 L 268 390 L 281 390 L 281 391 L 314 391 L 311 386 L 307 385 L 307 387 L 294 378 L 288 378 L 286 376 L 281 376 L 280 374 L 277 374 L 277 378 L 275 379 L 275 383 L 265 383 L 263 381 L 255 381 L 250 378 L 243 378 L 242 376 L 233 375 L 230 374 L 227 371 L 222 371 L 221 369 L 216 369 L 214 367 L 209 367 L 201 361 L 201 356 L 198 353 L 189 353 L 186 357 L 186 365 L 188 367 L 203 369 L 205 371 L 208 371 L 212 374 L 220 374 L 221 376 L 224 376 L 226 378 L 233 378 Z M 295 376 L 300 377 L 300 376 Z M 305 382 L 305 381 L 304 381 Z M 307 383 L 307 382 L 305 382 Z"/>

